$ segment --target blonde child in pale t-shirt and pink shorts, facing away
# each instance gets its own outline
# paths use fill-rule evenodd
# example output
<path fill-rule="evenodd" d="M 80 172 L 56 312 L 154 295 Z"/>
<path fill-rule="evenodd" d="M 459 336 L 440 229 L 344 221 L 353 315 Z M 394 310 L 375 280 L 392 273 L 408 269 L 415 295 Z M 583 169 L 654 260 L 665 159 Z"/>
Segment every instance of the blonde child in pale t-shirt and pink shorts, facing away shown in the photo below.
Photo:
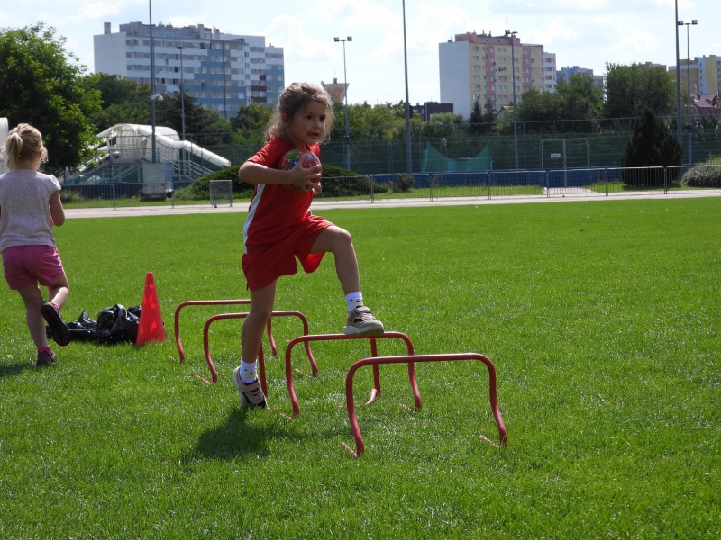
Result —
<path fill-rule="evenodd" d="M 23 123 L 10 131 L 5 141 L 10 172 L 0 175 L 0 252 L 5 279 L 20 293 L 25 320 L 38 349 L 35 365 L 49 365 L 56 356 L 48 344 L 45 321 L 60 346 L 68 345 L 70 332 L 60 317 L 68 300 L 69 285 L 52 226 L 65 222 L 60 184 L 55 176 L 38 172 L 48 157 L 42 135 Z M 48 302 L 38 286 L 48 289 Z"/>

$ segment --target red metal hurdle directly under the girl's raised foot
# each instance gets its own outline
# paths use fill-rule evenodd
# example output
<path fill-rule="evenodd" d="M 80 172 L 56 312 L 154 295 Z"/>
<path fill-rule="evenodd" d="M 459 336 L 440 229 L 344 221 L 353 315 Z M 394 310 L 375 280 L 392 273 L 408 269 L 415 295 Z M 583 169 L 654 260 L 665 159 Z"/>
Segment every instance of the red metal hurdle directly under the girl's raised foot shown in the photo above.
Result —
<path fill-rule="evenodd" d="M 318 335 L 310 335 L 310 336 L 299 336 L 297 338 L 291 339 L 290 343 L 287 344 L 286 347 L 286 383 L 287 383 L 287 393 L 290 396 L 290 402 L 293 405 L 293 416 L 298 416 L 300 414 L 300 408 L 298 407 L 298 400 L 296 396 L 296 389 L 293 385 L 293 365 L 291 360 L 291 354 L 293 352 L 293 347 L 296 347 L 298 343 L 304 343 L 306 345 L 306 350 L 308 347 L 308 343 L 310 341 L 336 341 L 341 339 L 369 339 L 370 340 L 370 355 L 373 357 L 378 356 L 378 347 L 376 344 L 377 339 L 388 339 L 388 338 L 396 338 L 396 339 L 402 339 L 406 342 L 406 347 L 408 349 L 408 356 L 403 356 L 404 358 L 408 358 L 409 356 L 412 357 L 414 354 L 413 350 L 413 343 L 411 342 L 410 338 L 406 336 L 406 334 L 402 334 L 401 332 L 384 332 L 383 334 L 376 334 L 376 335 L 348 335 L 348 334 L 318 334 Z M 311 357 L 311 368 L 313 370 L 313 376 L 318 374 L 318 366 L 315 364 L 315 360 Z M 408 361 L 408 378 L 410 379 L 411 387 L 413 388 L 413 393 L 415 396 L 415 406 L 420 407 L 421 403 L 421 396 L 418 393 L 418 386 L 415 384 L 415 369 L 413 366 L 413 361 Z M 373 383 L 374 387 L 373 390 L 370 391 L 370 399 L 367 402 L 372 403 L 376 397 L 380 395 L 380 375 L 378 370 L 378 365 L 373 366 Z"/>

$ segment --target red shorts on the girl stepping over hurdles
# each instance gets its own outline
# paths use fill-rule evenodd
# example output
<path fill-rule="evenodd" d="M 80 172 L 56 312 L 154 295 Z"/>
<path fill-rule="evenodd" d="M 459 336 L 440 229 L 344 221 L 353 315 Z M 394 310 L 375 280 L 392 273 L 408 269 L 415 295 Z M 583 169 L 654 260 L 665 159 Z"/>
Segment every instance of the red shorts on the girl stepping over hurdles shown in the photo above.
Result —
<path fill-rule="evenodd" d="M 242 271 L 248 282 L 249 291 L 258 291 L 273 283 L 281 275 L 297 273 L 296 257 L 306 273 L 314 272 L 321 264 L 323 253 L 311 254 L 315 239 L 332 226 L 321 216 L 311 215 L 286 238 L 275 244 L 247 247 L 248 253 L 242 256 Z"/>

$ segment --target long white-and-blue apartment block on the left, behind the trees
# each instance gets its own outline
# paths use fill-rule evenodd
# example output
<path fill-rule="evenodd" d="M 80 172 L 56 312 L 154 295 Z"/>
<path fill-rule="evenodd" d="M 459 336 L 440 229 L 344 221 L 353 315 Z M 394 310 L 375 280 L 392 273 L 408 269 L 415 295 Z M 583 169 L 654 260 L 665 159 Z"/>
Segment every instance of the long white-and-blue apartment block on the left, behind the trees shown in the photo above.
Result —
<path fill-rule="evenodd" d="M 151 27 L 121 24 L 93 36 L 96 73 L 151 85 Z M 152 25 L 157 94 L 177 94 L 180 85 L 196 103 L 226 119 L 250 103 L 277 103 L 285 87 L 283 49 L 261 36 L 226 34 L 203 24 Z"/>

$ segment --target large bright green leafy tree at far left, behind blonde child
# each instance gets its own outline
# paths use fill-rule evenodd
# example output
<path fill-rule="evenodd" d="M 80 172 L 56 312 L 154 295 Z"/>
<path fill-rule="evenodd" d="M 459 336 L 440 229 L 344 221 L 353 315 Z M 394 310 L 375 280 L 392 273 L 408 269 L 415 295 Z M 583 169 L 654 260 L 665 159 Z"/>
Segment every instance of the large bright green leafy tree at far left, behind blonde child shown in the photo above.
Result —
<path fill-rule="evenodd" d="M 86 67 L 65 49 L 54 28 L 36 23 L 0 30 L 0 116 L 11 126 L 41 130 L 48 170 L 78 166 L 93 154 L 100 92 L 87 84 Z"/>

